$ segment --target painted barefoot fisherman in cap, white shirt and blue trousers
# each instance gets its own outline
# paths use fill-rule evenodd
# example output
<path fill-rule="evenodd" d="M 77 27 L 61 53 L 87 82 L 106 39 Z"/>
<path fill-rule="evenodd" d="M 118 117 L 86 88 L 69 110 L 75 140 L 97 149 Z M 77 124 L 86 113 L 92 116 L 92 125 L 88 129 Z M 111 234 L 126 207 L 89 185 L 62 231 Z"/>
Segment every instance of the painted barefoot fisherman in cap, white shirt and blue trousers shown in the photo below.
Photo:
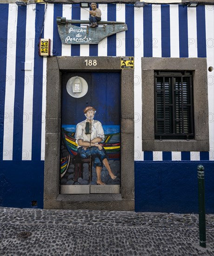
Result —
<path fill-rule="evenodd" d="M 95 108 L 87 107 L 84 110 L 86 120 L 77 124 L 76 143 L 78 144 L 77 153 L 81 158 L 90 158 L 94 161 L 97 173 L 97 184 L 105 185 L 101 181 L 101 169 L 103 165 L 107 168 L 108 174 L 114 180 L 116 176 L 112 172 L 107 160 L 105 149 L 99 144 L 104 140 L 104 131 L 100 121 L 94 120 Z"/>

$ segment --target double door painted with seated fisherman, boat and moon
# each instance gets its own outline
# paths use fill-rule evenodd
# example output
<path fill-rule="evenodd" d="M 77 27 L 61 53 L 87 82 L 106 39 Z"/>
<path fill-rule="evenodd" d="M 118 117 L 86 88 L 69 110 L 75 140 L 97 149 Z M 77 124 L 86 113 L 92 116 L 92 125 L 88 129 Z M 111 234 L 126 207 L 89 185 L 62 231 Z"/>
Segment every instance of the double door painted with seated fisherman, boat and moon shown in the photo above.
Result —
<path fill-rule="evenodd" d="M 62 74 L 60 185 L 120 193 L 120 73 Z"/>

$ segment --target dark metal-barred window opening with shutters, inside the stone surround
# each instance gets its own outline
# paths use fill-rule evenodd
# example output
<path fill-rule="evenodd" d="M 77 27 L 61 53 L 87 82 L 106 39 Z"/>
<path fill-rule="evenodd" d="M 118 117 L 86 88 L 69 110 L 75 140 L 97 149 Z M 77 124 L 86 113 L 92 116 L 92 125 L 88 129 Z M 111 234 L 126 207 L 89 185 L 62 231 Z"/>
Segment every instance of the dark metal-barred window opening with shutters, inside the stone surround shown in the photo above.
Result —
<path fill-rule="evenodd" d="M 154 71 L 155 139 L 193 139 L 191 72 Z"/>

